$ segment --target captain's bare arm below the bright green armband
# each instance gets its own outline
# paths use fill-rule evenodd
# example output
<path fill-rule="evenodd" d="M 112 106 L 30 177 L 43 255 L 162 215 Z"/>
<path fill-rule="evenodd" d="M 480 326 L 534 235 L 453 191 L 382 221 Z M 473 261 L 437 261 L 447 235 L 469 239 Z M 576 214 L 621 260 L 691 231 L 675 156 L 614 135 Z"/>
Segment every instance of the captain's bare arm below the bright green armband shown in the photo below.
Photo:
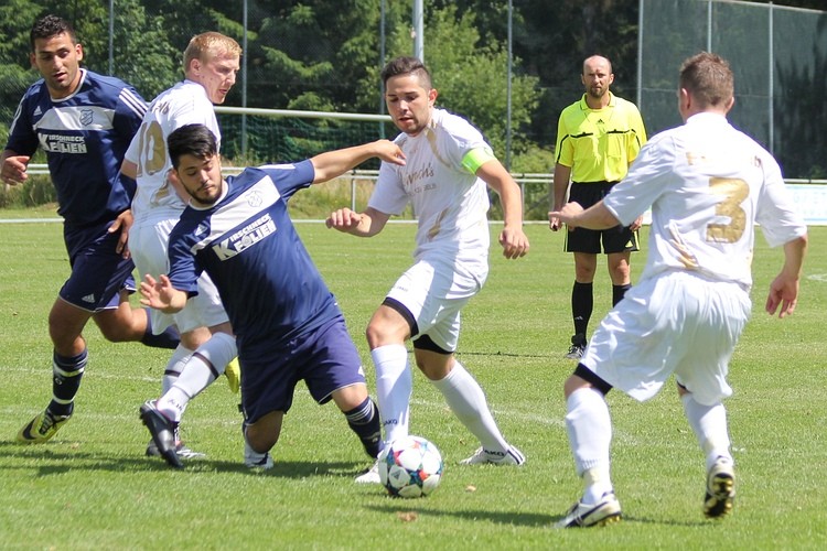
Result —
<path fill-rule="evenodd" d="M 530 245 L 523 231 L 523 196 L 519 185 L 496 159 L 480 166 L 476 175 L 497 192 L 503 205 L 503 231 L 498 238 L 503 256 L 507 259 L 525 257 Z"/>

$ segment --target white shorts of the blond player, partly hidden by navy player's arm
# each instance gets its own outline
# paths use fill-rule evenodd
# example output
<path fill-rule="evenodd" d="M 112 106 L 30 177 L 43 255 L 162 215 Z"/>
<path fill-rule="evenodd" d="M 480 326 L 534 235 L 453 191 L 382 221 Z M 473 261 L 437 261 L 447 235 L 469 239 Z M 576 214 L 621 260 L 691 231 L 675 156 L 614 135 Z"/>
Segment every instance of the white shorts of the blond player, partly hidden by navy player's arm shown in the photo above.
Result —
<path fill-rule="evenodd" d="M 146 220 L 136 223 L 129 229 L 129 250 L 138 272 L 149 273 L 158 279 L 161 273 L 169 273 L 170 262 L 167 246 L 170 231 L 178 219 Z M 190 298 L 186 305 L 176 314 L 164 314 L 150 309 L 152 333 L 162 333 L 170 325 L 175 325 L 180 333 L 187 333 L 198 327 L 212 327 L 228 321 L 218 290 L 206 273 L 198 278 L 198 294 Z"/>

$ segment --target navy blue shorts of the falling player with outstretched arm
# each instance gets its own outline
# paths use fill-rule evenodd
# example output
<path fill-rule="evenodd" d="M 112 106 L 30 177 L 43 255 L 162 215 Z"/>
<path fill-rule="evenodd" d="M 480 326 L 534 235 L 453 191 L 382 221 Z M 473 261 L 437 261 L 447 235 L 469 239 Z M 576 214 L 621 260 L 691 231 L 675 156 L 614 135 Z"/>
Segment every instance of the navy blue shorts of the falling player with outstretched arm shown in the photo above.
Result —
<path fill-rule="evenodd" d="M 319 403 L 330 401 L 335 390 L 365 383 L 362 359 L 341 315 L 282 346 L 266 338 L 237 343 L 241 407 L 249 423 L 271 411 L 290 410 L 300 380 Z"/>

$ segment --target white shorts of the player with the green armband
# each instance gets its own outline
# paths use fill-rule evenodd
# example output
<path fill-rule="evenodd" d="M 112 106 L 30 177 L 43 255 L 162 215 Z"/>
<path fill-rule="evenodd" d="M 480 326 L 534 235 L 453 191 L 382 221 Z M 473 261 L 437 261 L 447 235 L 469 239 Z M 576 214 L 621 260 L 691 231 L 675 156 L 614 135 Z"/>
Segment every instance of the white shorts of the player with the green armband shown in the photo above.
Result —
<path fill-rule="evenodd" d="M 428 335 L 443 350 L 457 349 L 460 311 L 480 292 L 488 274 L 487 262 L 466 268 L 471 271 L 457 270 L 452 260 L 428 258 L 399 277 L 387 296 L 410 311 L 418 328 L 414 338 Z"/>

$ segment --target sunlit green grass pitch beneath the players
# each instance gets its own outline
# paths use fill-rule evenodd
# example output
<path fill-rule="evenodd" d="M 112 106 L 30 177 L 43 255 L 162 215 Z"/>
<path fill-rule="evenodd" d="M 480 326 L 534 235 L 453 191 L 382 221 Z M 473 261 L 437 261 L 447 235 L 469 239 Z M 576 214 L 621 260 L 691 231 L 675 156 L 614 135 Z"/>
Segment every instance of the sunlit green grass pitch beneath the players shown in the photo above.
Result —
<path fill-rule="evenodd" d="M 0 217 L 7 217 L 0 212 Z M 365 363 L 367 320 L 410 261 L 412 225 L 358 240 L 299 226 L 336 293 Z M 496 227 L 493 228 L 493 233 Z M 525 467 L 463 467 L 476 447 L 441 396 L 415 374 L 411 432 L 432 440 L 445 476 L 426 499 L 401 500 L 353 477 L 369 465 L 332 404 L 300 388 L 275 449 L 276 467 L 241 466 L 238 397 L 223 380 L 192 402 L 187 444 L 207 457 L 176 472 L 144 457 L 138 407 L 158 395 L 168 353 L 105 342 L 90 357 L 76 415 L 45 445 L 14 435 L 51 392 L 46 315 L 68 266 L 60 224 L 0 224 L 0 548 L 2 549 L 824 549 L 827 545 L 825 358 L 827 229 L 813 228 L 798 311 L 763 313 L 781 264 L 759 236 L 754 314 L 731 366 L 728 400 L 738 462 L 734 514 L 701 514 L 704 458 L 672 387 L 638 404 L 609 395 L 613 480 L 623 522 L 554 530 L 579 496 L 562 422 L 571 333 L 570 256 L 560 235 L 527 228 L 531 252 L 492 272 L 464 311 L 460 358 L 485 389 Z M 640 272 L 645 253 L 634 257 Z M 601 267 L 592 329 L 610 303 Z"/>

